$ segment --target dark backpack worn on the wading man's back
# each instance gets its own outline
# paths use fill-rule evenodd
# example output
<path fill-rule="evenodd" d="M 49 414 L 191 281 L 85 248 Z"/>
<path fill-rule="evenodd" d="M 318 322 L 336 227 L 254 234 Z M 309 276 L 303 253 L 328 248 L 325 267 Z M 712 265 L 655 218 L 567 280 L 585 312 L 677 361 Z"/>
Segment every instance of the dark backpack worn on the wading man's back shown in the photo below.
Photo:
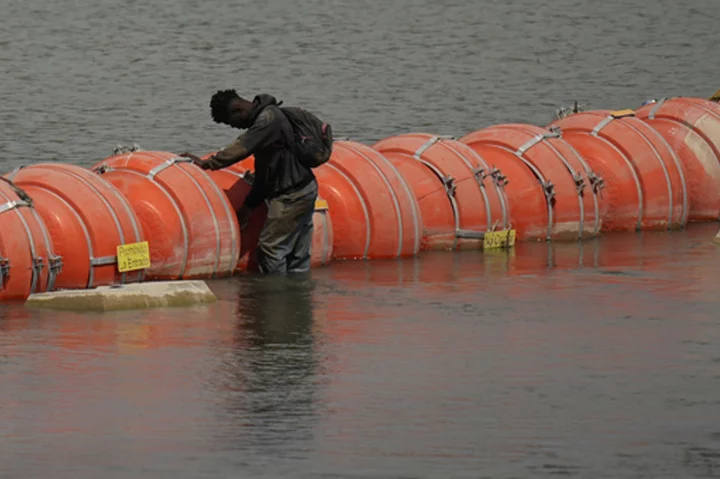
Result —
<path fill-rule="evenodd" d="M 326 163 L 332 154 L 332 127 L 318 117 L 298 107 L 281 107 L 295 134 L 292 151 L 308 168 Z"/>

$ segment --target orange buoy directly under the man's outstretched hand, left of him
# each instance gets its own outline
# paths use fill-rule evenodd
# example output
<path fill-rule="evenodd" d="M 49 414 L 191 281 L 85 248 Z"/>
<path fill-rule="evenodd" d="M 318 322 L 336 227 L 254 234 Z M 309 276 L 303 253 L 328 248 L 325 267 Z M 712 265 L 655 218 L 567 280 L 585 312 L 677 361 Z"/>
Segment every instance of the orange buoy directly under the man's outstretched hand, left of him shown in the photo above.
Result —
<path fill-rule="evenodd" d="M 94 171 L 128 199 L 150 244 L 148 279 L 231 275 L 240 254 L 240 228 L 230 202 L 186 158 L 134 151 L 97 163 Z"/>

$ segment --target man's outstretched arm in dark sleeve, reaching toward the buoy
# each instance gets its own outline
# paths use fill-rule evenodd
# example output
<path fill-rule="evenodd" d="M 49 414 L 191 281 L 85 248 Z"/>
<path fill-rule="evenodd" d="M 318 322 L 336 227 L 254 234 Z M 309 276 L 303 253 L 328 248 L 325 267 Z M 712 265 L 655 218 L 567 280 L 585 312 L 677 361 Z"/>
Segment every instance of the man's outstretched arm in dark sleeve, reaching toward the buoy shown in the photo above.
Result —
<path fill-rule="evenodd" d="M 255 119 L 255 123 L 232 144 L 218 151 L 203 163 L 203 168 L 219 170 L 244 160 L 255 151 L 268 146 L 279 136 L 277 111 L 267 107 Z"/>

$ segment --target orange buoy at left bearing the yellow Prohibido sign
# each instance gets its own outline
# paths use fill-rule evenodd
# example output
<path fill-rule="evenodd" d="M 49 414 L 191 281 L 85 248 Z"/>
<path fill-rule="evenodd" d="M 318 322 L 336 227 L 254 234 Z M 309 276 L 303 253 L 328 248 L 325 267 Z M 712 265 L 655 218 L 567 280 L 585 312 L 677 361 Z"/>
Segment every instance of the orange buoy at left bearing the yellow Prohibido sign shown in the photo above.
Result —
<path fill-rule="evenodd" d="M 144 270 L 120 273 L 116 248 L 144 241 L 125 197 L 85 168 L 36 163 L 5 175 L 26 191 L 63 258 L 58 289 L 94 288 L 142 281 Z"/>

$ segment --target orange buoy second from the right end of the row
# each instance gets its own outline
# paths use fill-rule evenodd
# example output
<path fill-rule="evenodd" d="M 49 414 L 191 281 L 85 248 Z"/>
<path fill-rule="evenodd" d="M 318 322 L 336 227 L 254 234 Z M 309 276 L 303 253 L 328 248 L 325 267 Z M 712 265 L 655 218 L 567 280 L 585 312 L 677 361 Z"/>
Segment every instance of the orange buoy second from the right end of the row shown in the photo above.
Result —
<path fill-rule="evenodd" d="M 576 113 L 554 121 L 588 164 L 605 179 L 604 231 L 666 229 L 687 221 L 682 164 L 660 134 L 632 110 Z"/>

